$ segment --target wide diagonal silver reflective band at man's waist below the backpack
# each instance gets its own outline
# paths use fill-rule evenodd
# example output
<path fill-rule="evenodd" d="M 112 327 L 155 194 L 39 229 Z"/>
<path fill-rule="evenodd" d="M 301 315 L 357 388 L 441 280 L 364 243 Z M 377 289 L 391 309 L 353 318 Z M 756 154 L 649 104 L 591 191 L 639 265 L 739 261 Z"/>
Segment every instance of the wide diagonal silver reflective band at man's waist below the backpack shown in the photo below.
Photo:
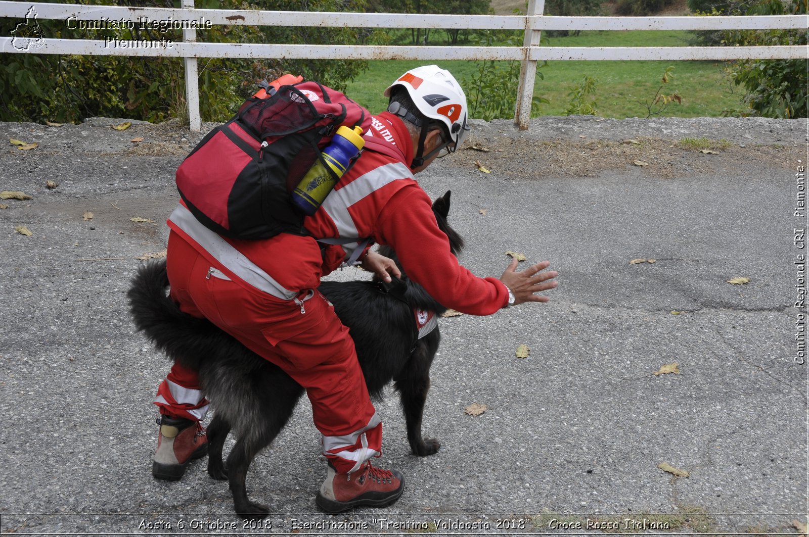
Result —
<path fill-rule="evenodd" d="M 205 248 L 205 251 L 214 256 L 219 263 L 257 290 L 282 300 L 292 300 L 297 296 L 297 292 L 284 289 L 273 277 L 239 253 L 225 239 L 203 226 L 183 205 L 178 205 L 168 219 Z"/>

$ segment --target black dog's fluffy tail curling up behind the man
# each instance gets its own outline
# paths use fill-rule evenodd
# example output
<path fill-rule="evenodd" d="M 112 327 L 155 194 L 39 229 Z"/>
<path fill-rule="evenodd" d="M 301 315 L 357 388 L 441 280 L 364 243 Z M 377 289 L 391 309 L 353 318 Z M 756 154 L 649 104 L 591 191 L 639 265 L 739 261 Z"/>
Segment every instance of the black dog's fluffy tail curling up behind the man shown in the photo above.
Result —
<path fill-rule="evenodd" d="M 166 353 L 173 362 L 199 370 L 200 360 L 210 353 L 211 346 L 230 336 L 211 330 L 208 320 L 180 311 L 168 298 L 167 286 L 165 260 L 142 265 L 127 292 L 129 311 L 138 331 L 142 331 L 155 348 Z"/>

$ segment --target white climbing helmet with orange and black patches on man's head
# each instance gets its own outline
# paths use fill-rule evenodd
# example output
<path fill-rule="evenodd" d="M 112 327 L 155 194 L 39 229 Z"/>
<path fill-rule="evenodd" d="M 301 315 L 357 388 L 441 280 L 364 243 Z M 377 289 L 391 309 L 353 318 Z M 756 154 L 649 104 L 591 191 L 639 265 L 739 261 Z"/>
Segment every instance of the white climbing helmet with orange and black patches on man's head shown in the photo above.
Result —
<path fill-rule="evenodd" d="M 469 133 L 469 125 L 466 95 L 455 77 L 438 66 L 421 66 L 403 74 L 384 95 L 390 97 L 396 86 L 407 90 L 421 114 L 447 127 L 451 138 L 448 148 L 457 150 Z"/>

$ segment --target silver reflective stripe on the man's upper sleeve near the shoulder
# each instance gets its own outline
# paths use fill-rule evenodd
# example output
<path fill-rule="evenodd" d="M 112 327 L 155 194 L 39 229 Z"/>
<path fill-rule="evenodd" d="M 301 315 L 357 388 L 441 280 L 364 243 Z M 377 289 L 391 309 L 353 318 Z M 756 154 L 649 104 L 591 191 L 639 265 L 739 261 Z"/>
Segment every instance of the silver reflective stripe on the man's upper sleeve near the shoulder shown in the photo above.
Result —
<path fill-rule="evenodd" d="M 323 209 L 337 226 L 337 233 L 341 237 L 357 237 L 358 230 L 349 214 L 349 207 L 362 198 L 371 195 L 375 190 L 382 188 L 397 179 L 413 177 L 408 167 L 402 163 L 385 164 L 360 175 L 357 179 L 346 184 L 339 190 L 333 190 L 323 202 Z"/>

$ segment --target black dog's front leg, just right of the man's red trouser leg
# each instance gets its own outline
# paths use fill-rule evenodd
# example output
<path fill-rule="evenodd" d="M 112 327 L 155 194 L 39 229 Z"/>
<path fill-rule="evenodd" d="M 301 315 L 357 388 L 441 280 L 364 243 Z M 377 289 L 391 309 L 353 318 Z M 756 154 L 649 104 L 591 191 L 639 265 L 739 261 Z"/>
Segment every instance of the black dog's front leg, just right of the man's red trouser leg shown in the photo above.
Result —
<path fill-rule="evenodd" d="M 396 390 L 399 391 L 404 411 L 410 449 L 413 450 L 413 455 L 420 457 L 433 455 L 441 447 L 441 442 L 437 439 L 421 437 L 421 418 L 424 415 L 427 392 L 430 391 L 430 364 L 438 350 L 439 339 L 436 330 L 419 340 L 407 366 L 399 378 L 396 378 Z"/>

